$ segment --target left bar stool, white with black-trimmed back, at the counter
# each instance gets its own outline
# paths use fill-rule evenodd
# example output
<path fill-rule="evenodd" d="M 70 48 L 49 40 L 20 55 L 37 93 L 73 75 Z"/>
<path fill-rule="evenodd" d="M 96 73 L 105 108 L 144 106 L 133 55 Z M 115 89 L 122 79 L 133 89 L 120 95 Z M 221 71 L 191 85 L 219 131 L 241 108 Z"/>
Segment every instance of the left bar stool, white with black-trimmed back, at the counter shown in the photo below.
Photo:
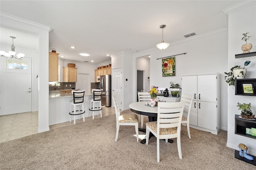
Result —
<path fill-rule="evenodd" d="M 73 99 L 70 100 L 70 104 L 71 104 L 71 110 L 70 110 L 70 122 L 72 121 L 72 116 L 74 116 L 74 125 L 76 124 L 76 115 L 80 115 L 81 119 L 81 115 L 83 115 L 83 121 L 84 121 L 84 92 L 85 90 L 82 91 L 74 91 L 72 90 L 71 93 L 73 94 Z M 78 110 L 76 110 L 76 106 L 78 106 Z M 72 107 L 74 107 L 74 111 L 72 111 Z M 81 110 L 82 109 L 82 110 Z M 76 111 L 79 111 L 79 113 L 76 113 Z M 81 113 L 82 111 L 82 113 Z"/>

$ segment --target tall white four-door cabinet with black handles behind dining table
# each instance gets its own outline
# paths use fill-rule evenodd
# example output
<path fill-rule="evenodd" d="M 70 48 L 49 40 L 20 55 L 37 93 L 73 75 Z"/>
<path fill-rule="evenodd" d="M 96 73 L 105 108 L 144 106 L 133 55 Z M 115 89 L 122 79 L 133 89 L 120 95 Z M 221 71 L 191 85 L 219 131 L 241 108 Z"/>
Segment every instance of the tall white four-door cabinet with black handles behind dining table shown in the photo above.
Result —
<path fill-rule="evenodd" d="M 182 93 L 193 96 L 190 127 L 218 134 L 220 130 L 219 73 L 182 75 Z"/>

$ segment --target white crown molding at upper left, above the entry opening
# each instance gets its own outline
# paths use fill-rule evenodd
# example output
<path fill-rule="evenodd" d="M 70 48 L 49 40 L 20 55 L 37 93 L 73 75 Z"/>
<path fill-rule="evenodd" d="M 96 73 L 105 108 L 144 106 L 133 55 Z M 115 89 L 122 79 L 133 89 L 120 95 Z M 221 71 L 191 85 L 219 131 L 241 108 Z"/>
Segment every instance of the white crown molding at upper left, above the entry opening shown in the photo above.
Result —
<path fill-rule="evenodd" d="M 1 18 L 1 20 L 8 20 L 8 21 L 11 21 L 11 22 L 16 22 L 18 24 L 30 26 L 30 27 L 37 28 L 37 29 L 40 29 L 40 30 L 46 30 L 48 32 L 50 31 L 49 26 L 44 26 L 42 24 L 38 24 L 36 22 L 25 20 L 23 18 L 19 18 L 19 17 L 13 16 L 13 15 L 10 15 L 10 14 L 6 14 L 4 12 L 0 12 L 0 18 Z"/>

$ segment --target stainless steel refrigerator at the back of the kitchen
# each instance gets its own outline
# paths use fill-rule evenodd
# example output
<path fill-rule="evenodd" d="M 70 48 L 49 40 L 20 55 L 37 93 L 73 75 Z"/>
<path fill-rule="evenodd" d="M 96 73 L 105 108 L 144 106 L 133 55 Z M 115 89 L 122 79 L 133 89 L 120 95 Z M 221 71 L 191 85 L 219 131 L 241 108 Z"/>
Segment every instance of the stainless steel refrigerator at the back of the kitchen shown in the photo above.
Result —
<path fill-rule="evenodd" d="M 103 89 L 101 104 L 111 107 L 111 75 L 100 76 L 100 89 Z"/>

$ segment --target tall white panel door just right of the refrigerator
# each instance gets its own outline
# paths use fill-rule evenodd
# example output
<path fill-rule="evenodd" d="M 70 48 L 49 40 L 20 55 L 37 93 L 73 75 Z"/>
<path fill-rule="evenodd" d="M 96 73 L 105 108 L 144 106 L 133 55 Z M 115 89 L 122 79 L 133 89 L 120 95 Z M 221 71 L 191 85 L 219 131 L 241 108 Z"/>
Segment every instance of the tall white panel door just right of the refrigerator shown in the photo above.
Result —
<path fill-rule="evenodd" d="M 122 110 L 122 69 L 113 69 L 112 70 L 112 81 L 113 81 L 113 89 L 112 89 L 112 95 L 116 95 L 118 106 Z"/>

